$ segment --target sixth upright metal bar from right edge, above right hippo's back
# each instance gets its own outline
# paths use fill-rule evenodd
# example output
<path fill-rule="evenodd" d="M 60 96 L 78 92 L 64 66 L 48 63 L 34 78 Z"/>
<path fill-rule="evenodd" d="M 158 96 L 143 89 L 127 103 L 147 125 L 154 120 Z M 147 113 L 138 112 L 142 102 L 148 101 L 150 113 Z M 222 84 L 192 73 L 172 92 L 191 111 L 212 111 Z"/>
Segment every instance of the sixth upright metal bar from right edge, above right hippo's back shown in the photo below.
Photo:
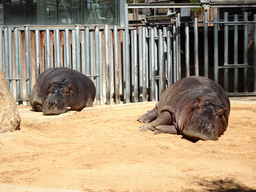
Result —
<path fill-rule="evenodd" d="M 204 12 L 204 76 L 209 77 L 208 12 Z"/>

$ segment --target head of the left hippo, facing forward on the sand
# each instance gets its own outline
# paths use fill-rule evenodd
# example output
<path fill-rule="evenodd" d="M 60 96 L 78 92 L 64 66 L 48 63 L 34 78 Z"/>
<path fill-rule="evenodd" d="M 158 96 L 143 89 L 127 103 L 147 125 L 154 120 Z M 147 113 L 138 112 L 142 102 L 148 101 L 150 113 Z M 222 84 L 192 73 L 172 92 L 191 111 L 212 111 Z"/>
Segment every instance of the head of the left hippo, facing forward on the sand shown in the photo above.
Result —
<path fill-rule="evenodd" d="M 49 83 L 48 95 L 44 99 L 42 111 L 45 115 L 58 115 L 70 109 L 74 95 L 73 85 L 66 82 Z"/>

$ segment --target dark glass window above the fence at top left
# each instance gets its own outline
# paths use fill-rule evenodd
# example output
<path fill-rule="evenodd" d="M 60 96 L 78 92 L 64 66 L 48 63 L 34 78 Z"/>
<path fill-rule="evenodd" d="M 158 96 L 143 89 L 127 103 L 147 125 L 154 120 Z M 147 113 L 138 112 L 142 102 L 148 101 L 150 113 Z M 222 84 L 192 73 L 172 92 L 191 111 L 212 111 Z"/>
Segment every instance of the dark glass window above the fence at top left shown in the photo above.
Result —
<path fill-rule="evenodd" d="M 123 1 L 123 0 L 121 0 Z M 120 24 L 120 0 L 0 0 L 1 25 Z"/>

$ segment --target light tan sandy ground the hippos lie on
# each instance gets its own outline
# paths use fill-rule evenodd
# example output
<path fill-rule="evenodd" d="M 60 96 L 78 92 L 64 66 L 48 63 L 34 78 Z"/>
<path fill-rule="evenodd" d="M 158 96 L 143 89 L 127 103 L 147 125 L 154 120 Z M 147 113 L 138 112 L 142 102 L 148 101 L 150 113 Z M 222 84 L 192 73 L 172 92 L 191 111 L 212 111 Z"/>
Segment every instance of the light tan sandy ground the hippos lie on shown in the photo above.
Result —
<path fill-rule="evenodd" d="M 154 103 L 44 116 L 0 135 L 0 191 L 256 191 L 256 101 L 232 99 L 218 141 L 141 132 Z"/>

